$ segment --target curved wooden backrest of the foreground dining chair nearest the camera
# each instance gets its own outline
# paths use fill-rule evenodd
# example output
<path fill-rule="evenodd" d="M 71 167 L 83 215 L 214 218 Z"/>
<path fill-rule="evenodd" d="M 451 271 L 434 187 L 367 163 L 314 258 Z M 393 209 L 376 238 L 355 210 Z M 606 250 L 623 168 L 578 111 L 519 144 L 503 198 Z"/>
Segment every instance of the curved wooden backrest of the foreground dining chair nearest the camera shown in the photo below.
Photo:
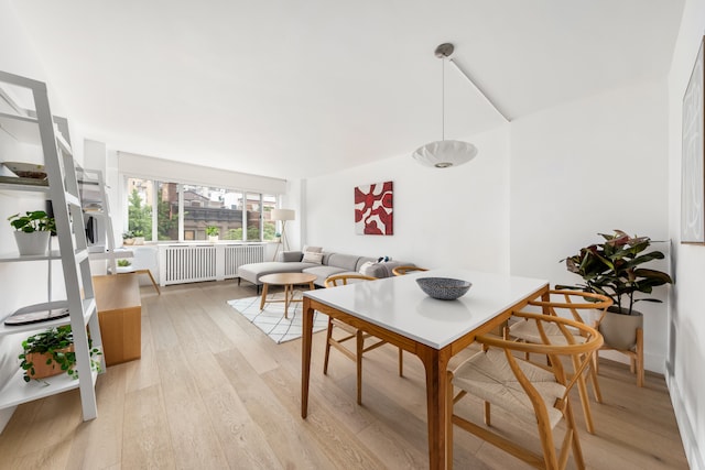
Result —
<path fill-rule="evenodd" d="M 542 342 L 512 341 L 486 335 L 478 336 L 475 340 L 481 345 L 492 348 L 501 348 L 505 350 L 507 360 L 514 372 L 514 375 L 530 397 L 532 397 L 532 394 L 535 396 L 539 396 L 539 394 L 535 390 L 533 390 L 533 393 L 531 392 L 533 389 L 530 384 L 531 381 L 521 371 L 521 368 L 517 362 L 518 359 L 514 357 L 513 352 L 517 351 L 547 356 L 550 358 L 551 365 L 546 368 L 553 372 L 556 381 L 566 387 L 564 394 L 565 398 L 571 387 L 575 384 L 577 378 L 581 376 L 587 367 L 589 367 L 593 353 L 603 346 L 603 336 L 592 326 L 570 318 L 528 311 L 514 311 L 512 316 L 533 323 L 539 331 Z M 563 340 L 556 341 L 555 337 L 553 337 L 554 339 L 552 342 L 551 336 L 546 334 L 546 330 L 555 329 L 556 327 L 561 331 Z M 582 336 L 583 339 L 579 341 L 576 340 L 575 336 L 577 335 Z M 570 382 L 567 381 L 567 375 L 563 370 L 561 357 L 572 357 L 574 359 L 573 363 L 576 364 L 575 371 L 572 373 L 573 379 Z M 534 398 L 532 397 L 532 401 L 533 400 Z"/>

